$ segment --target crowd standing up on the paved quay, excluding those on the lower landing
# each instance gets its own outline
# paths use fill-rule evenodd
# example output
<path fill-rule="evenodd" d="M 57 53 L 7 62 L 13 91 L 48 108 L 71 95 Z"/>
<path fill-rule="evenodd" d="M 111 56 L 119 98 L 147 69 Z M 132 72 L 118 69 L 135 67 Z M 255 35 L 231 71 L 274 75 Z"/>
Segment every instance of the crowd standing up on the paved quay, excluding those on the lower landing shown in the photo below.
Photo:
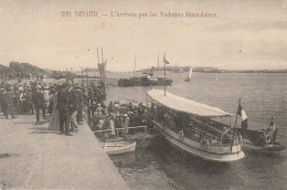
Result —
<path fill-rule="evenodd" d="M 83 120 L 83 109 L 86 104 L 85 91 L 70 83 L 50 84 L 41 82 L 17 83 L 0 85 L 0 106 L 4 117 L 11 115 L 36 115 L 40 123 L 40 113 L 43 119 L 46 112 L 51 114 L 49 129 L 60 130 L 65 135 L 75 131 Z"/>

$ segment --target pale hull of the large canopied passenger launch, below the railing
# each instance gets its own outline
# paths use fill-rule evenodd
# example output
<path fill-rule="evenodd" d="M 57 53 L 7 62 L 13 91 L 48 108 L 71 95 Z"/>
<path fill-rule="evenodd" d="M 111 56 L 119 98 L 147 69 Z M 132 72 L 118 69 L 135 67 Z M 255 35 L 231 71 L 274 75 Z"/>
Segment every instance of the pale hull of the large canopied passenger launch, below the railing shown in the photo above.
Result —
<path fill-rule="evenodd" d="M 241 146 L 233 146 L 230 154 L 219 154 L 219 146 L 209 147 L 209 149 L 204 150 L 201 148 L 200 142 L 191 140 L 189 138 L 180 139 L 179 135 L 167 127 L 163 127 L 161 124 L 153 122 L 153 127 L 158 129 L 163 137 L 170 141 L 177 148 L 184 150 L 194 156 L 199 156 L 206 160 L 219 161 L 219 162 L 230 162 L 236 161 L 245 157 L 245 154 L 241 150 Z M 220 147 L 220 149 L 228 150 L 227 147 Z"/>

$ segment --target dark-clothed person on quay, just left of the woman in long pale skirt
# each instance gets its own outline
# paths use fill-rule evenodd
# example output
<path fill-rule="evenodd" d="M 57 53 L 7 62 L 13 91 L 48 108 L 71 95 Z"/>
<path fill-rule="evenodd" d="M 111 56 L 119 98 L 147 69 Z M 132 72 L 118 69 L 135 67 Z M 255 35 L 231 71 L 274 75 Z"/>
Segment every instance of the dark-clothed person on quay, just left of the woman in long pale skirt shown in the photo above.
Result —
<path fill-rule="evenodd" d="M 40 86 L 36 86 L 36 89 L 33 95 L 33 103 L 36 112 L 36 123 L 40 123 L 40 109 L 42 109 L 43 118 L 45 119 L 45 99 L 44 94 L 41 93 Z"/>

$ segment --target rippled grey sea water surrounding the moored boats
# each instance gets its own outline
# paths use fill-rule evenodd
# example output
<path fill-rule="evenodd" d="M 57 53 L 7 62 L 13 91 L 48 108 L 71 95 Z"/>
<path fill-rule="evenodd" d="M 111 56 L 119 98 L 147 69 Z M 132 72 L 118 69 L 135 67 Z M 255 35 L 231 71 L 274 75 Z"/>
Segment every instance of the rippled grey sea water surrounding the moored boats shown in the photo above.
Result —
<path fill-rule="evenodd" d="M 241 98 L 249 128 L 267 127 L 274 116 L 277 139 L 287 146 L 287 74 L 193 73 L 190 82 L 184 82 L 188 73 L 168 76 L 174 81 L 167 91 L 233 114 Z M 150 88 L 108 87 L 107 102 L 146 102 Z M 286 150 L 276 155 L 246 150 L 242 160 L 216 163 L 179 151 L 159 137 L 147 148 L 111 160 L 130 189 L 286 189 Z"/>

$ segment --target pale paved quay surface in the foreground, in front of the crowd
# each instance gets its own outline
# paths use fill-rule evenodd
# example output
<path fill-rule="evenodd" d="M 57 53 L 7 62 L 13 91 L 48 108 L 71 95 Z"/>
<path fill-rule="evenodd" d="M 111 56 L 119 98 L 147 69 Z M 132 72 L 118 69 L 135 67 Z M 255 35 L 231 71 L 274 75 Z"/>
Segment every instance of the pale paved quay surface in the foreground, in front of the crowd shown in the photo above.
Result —
<path fill-rule="evenodd" d="M 64 136 L 34 120 L 0 117 L 0 189 L 128 189 L 86 124 Z"/>

